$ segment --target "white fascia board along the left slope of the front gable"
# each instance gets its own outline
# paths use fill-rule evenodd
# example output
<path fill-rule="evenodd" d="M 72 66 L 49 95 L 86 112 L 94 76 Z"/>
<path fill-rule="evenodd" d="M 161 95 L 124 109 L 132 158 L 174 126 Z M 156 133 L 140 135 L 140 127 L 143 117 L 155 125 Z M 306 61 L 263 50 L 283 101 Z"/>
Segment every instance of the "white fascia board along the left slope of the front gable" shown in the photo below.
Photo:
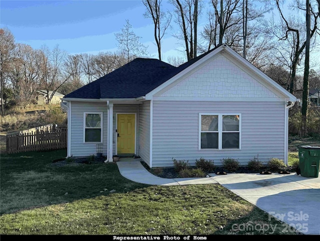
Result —
<path fill-rule="evenodd" d="M 178 72 L 176 75 L 174 75 L 173 77 L 169 78 L 167 81 L 165 81 L 164 83 L 160 84 L 159 86 L 157 86 L 156 88 L 154 88 L 153 90 L 151 90 L 150 92 L 148 92 L 145 95 L 145 99 L 147 100 L 151 100 L 152 96 L 154 94 L 156 94 L 157 92 L 159 92 L 160 90 L 164 89 L 165 87 L 169 86 L 171 83 L 173 83 L 175 80 L 177 80 L 178 78 L 180 78 L 181 76 L 183 76 L 184 74 L 190 72 L 192 69 L 196 68 L 198 65 L 200 65 L 201 63 L 205 62 L 207 59 L 209 59 L 210 57 L 214 56 L 216 53 L 218 53 L 221 49 L 223 49 L 224 45 L 221 45 L 219 47 L 217 47 L 216 49 L 214 49 L 212 52 L 206 54 L 205 56 L 203 56 L 202 58 L 200 58 L 199 60 L 195 61 L 194 63 L 192 63 L 190 66 L 184 68 L 181 72 Z"/>

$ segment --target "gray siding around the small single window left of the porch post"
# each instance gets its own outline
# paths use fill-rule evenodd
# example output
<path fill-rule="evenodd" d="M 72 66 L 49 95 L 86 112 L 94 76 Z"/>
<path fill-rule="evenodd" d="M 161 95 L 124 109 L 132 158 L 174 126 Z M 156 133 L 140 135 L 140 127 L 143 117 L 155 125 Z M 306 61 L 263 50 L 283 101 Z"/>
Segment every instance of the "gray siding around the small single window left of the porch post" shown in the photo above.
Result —
<path fill-rule="evenodd" d="M 107 145 L 107 108 L 106 103 L 71 102 L 71 155 L 88 156 L 96 154 L 96 143 L 83 143 L 83 113 L 103 112 L 102 124 L 102 154 L 106 155 Z"/>

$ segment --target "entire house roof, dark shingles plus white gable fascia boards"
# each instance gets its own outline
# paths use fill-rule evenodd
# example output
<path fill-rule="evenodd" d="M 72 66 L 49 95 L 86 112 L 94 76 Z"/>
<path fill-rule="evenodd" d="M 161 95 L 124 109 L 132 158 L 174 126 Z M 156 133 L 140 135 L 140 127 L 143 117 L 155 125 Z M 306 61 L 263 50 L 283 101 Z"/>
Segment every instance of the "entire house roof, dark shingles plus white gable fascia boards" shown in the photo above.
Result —
<path fill-rule="evenodd" d="M 178 67 L 154 58 L 135 58 L 114 71 L 65 95 L 64 99 L 122 99 L 138 98 L 146 96 L 147 94 L 150 95 L 163 88 L 163 86 L 169 82 L 173 82 L 176 77 L 201 64 L 202 61 L 210 58 L 211 55 L 213 56 L 220 51 L 223 52 L 224 49 L 230 54 L 233 54 L 233 57 L 241 61 L 252 71 L 255 71 L 262 76 L 270 86 L 280 91 L 285 97 L 289 97 L 293 101 L 296 100 L 294 95 L 290 94 L 262 71 L 254 67 L 246 59 L 224 44 L 215 47 Z"/>

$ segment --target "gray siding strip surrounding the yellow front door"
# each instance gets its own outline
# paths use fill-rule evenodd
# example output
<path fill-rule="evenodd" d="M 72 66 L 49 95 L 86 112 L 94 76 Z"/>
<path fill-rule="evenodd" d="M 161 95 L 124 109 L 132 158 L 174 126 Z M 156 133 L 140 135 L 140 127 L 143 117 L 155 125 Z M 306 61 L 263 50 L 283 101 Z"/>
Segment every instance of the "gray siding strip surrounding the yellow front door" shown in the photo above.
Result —
<path fill-rule="evenodd" d="M 136 113 L 136 123 L 137 126 L 138 123 L 138 104 L 114 104 L 113 105 L 113 154 L 116 153 L 116 138 L 117 133 L 116 130 L 116 114 L 117 113 Z M 138 132 L 138 131 L 136 131 Z M 135 141 L 138 140 L 138 133 L 135 133 Z M 137 149 L 137 143 L 136 143 L 136 149 Z M 135 152 L 137 152 L 135 149 Z"/>

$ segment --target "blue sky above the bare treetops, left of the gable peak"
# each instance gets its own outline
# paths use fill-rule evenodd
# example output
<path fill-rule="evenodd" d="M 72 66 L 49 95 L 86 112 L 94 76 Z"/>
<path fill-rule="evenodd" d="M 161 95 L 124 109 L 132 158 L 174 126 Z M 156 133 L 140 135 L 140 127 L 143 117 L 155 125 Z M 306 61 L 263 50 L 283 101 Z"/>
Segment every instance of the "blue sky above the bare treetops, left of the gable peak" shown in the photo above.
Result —
<path fill-rule="evenodd" d="M 153 24 L 145 18 L 141 0 L 1 0 L 1 27 L 7 27 L 16 42 L 40 48 L 56 44 L 68 53 L 115 51 L 119 32 L 128 19 L 140 41 L 157 57 Z M 163 8 L 170 7 L 163 0 Z M 162 54 L 184 56 L 170 29 L 162 41 Z"/>

